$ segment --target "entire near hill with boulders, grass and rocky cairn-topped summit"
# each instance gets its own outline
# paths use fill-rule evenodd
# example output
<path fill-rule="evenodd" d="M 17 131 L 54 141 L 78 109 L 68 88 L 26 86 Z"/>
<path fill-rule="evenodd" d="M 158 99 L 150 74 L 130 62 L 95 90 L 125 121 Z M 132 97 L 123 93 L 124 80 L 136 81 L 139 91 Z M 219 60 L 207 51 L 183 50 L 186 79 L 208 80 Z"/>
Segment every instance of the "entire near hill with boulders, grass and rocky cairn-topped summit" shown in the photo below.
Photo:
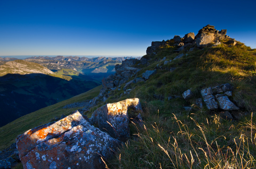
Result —
<path fill-rule="evenodd" d="M 256 49 L 226 33 L 206 25 L 152 42 L 102 87 L 3 126 L 6 147 L 23 134 L 0 166 L 255 168 Z"/>

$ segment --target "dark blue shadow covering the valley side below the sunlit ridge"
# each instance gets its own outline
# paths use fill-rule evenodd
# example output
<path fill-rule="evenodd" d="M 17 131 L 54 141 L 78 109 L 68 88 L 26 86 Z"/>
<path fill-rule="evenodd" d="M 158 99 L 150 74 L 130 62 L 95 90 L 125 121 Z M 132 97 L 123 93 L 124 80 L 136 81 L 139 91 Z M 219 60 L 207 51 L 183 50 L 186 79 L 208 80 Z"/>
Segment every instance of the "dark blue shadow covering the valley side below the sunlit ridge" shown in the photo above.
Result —
<path fill-rule="evenodd" d="M 97 81 L 70 81 L 44 74 L 7 74 L 0 77 L 0 127 L 38 109 L 66 100 L 100 85 Z M 54 113 L 54 112 L 53 112 Z"/>

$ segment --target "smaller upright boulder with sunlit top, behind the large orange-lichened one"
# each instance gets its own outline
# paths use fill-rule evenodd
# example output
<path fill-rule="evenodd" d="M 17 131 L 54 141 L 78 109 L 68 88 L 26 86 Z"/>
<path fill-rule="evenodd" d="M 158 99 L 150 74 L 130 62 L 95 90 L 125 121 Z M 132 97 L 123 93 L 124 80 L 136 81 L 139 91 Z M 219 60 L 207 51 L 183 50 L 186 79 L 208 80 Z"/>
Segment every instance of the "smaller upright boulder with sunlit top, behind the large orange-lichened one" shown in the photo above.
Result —
<path fill-rule="evenodd" d="M 138 98 L 129 98 L 117 103 L 110 103 L 95 110 L 90 118 L 99 129 L 106 131 L 120 141 L 126 141 L 130 136 L 128 109 L 142 111 Z"/>

